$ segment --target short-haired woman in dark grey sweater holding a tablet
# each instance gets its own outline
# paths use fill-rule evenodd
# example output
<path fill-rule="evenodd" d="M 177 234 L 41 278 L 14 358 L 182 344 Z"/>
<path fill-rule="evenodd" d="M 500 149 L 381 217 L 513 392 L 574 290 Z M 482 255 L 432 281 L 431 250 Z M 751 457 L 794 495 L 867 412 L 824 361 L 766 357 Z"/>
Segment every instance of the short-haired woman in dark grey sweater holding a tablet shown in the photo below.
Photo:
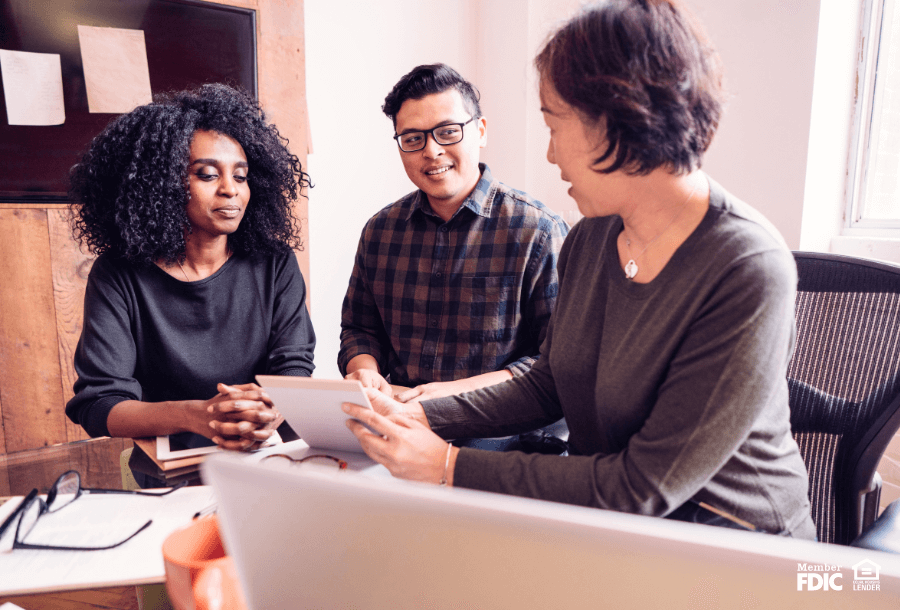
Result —
<path fill-rule="evenodd" d="M 560 253 L 540 359 L 460 396 L 373 392 L 377 412 L 346 411 L 376 433 L 347 425 L 404 478 L 814 538 L 786 381 L 796 267 L 775 228 L 700 170 L 724 97 L 707 38 L 678 0 L 605 0 L 536 65 L 547 160 L 585 216 Z M 440 438 L 563 416 L 566 457 Z"/>

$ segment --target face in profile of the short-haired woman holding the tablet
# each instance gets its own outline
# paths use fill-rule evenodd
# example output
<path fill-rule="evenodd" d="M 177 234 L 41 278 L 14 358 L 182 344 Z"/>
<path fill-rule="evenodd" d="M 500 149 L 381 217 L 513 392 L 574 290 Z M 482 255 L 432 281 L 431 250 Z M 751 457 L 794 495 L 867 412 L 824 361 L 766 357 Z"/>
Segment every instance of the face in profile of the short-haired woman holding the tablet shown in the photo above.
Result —
<path fill-rule="evenodd" d="M 578 112 L 544 79 L 541 112 L 550 128 L 547 160 L 559 167 L 560 178 L 572 184 L 569 196 L 578 210 L 589 217 L 618 213 L 622 198 L 628 197 L 628 177 L 621 170 L 610 174 L 596 171 L 604 167 L 595 163 L 606 150 L 602 127 L 586 126 Z"/>

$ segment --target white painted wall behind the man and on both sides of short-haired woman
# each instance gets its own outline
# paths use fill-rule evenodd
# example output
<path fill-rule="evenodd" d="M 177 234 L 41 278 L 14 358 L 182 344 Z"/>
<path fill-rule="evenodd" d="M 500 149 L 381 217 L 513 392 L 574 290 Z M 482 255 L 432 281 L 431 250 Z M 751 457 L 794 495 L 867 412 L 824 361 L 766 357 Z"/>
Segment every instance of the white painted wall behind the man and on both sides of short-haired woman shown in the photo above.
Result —
<path fill-rule="evenodd" d="M 722 55 L 732 95 L 704 167 L 798 248 L 819 1 L 688 4 Z M 309 279 L 317 376 L 338 376 L 340 308 L 363 224 L 413 188 L 391 140 L 391 123 L 380 110 L 384 96 L 412 67 L 443 61 L 472 80 L 488 120 L 482 159 L 500 180 L 572 218 L 574 202 L 545 158 L 548 136 L 532 60 L 553 25 L 578 6 L 578 0 L 306 0 L 314 146 L 309 170 L 316 184 L 309 206 Z M 814 141 L 831 152 L 841 145 L 839 139 Z"/>

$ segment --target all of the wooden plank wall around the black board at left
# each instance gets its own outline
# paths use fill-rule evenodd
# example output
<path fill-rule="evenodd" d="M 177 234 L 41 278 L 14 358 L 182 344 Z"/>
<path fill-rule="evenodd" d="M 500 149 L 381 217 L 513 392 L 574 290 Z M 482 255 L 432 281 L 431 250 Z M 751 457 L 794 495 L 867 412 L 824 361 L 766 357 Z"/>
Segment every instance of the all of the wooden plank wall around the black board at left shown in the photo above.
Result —
<path fill-rule="evenodd" d="M 260 101 L 305 169 L 303 2 L 218 3 L 257 11 Z M 93 256 L 72 239 L 67 214 L 60 204 L 0 202 L 0 455 L 87 438 L 64 408 L 75 381 L 72 355 Z M 297 256 L 309 286 L 305 199 L 296 214 L 305 243 Z"/>

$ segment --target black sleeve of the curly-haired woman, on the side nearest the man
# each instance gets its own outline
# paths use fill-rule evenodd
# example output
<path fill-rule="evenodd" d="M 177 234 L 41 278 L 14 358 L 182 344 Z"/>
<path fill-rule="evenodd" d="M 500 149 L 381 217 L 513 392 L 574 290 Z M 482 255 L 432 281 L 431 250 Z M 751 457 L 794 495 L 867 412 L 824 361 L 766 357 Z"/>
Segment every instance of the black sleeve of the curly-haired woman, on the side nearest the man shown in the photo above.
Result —
<path fill-rule="evenodd" d="M 269 334 L 266 373 L 269 375 L 312 375 L 316 334 L 306 309 L 306 283 L 290 252 L 279 260 L 275 277 L 275 302 Z"/>

